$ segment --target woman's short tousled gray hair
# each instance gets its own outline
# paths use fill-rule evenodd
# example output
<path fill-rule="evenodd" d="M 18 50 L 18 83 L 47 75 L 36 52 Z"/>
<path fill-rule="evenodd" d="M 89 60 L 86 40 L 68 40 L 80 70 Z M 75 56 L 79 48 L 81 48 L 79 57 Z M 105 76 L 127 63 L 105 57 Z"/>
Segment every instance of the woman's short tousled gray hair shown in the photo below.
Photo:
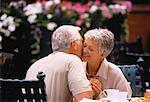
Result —
<path fill-rule="evenodd" d="M 84 34 L 85 38 L 93 39 L 99 50 L 106 52 L 106 57 L 111 53 L 114 47 L 114 34 L 108 29 L 93 29 Z"/>

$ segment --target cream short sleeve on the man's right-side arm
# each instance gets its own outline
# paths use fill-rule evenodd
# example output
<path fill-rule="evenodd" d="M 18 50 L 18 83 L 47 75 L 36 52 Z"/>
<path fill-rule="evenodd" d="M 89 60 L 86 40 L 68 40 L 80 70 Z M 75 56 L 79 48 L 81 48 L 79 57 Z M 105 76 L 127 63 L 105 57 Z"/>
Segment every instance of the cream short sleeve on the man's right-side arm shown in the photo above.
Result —
<path fill-rule="evenodd" d="M 86 77 L 82 61 L 79 58 L 74 58 L 69 63 L 68 83 L 69 89 L 73 96 L 76 94 L 92 91 L 90 82 Z"/>

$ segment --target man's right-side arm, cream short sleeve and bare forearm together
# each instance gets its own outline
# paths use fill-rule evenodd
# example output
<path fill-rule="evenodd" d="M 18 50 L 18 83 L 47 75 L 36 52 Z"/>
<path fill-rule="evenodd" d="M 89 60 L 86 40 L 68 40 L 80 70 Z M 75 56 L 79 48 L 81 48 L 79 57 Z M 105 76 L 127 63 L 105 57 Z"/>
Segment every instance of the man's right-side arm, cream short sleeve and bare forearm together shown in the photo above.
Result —
<path fill-rule="evenodd" d="M 69 64 L 68 85 L 77 102 L 83 98 L 93 99 L 93 91 L 79 58 L 72 58 Z"/>

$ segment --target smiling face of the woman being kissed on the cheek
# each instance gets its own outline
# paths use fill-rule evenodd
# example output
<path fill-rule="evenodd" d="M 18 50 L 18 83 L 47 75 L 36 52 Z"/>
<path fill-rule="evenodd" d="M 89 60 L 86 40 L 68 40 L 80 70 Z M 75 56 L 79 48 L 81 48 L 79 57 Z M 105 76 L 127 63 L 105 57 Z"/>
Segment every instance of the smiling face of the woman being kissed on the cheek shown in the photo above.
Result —
<path fill-rule="evenodd" d="M 85 38 L 82 60 L 88 63 L 96 63 L 100 59 L 99 46 L 93 39 Z"/>

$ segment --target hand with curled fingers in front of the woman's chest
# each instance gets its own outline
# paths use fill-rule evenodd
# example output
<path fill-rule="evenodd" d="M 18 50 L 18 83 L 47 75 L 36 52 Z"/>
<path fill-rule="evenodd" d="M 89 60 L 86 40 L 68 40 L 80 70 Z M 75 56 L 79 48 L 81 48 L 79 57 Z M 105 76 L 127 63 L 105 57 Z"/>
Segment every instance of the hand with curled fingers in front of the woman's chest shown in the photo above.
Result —
<path fill-rule="evenodd" d="M 90 82 L 93 90 L 93 98 L 96 98 L 102 91 L 102 83 L 96 78 L 90 79 Z"/>

